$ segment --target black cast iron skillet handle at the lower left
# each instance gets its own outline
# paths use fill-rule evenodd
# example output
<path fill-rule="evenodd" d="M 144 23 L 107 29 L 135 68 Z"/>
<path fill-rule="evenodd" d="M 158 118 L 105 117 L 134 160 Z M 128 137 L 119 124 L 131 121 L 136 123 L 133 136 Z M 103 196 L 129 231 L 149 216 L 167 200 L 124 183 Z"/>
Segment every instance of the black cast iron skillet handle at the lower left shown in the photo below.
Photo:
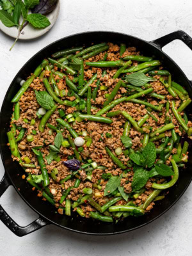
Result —
<path fill-rule="evenodd" d="M 0 197 L 6 191 L 6 189 L 11 185 L 10 180 L 4 175 L 0 182 Z M 26 227 L 20 227 L 13 219 L 4 211 L 3 207 L 0 205 L 0 220 L 8 227 L 16 236 L 26 236 L 39 228 L 42 228 L 50 223 L 48 221 L 38 218 Z"/>

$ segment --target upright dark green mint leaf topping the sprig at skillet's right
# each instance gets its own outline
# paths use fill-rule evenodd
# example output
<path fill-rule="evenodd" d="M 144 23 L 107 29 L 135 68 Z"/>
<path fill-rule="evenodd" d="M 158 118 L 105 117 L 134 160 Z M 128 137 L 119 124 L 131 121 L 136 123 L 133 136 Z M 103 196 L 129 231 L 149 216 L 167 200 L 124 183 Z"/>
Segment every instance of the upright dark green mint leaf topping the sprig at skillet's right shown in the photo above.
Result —
<path fill-rule="evenodd" d="M 142 155 L 145 158 L 145 166 L 150 168 L 156 161 L 156 146 L 154 143 L 148 143 L 143 149 Z"/>

